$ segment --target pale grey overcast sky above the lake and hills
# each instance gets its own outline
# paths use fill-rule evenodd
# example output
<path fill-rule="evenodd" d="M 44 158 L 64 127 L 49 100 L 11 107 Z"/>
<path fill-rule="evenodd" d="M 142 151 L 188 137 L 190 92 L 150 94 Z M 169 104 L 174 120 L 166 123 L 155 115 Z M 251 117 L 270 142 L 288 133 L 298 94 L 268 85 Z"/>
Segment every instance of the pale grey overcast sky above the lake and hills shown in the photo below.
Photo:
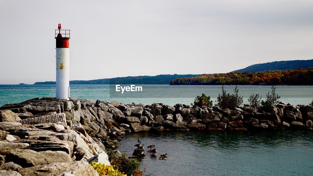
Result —
<path fill-rule="evenodd" d="M 313 59 L 312 0 L 1 0 L 0 84 L 55 81 L 58 23 L 70 80 Z"/>

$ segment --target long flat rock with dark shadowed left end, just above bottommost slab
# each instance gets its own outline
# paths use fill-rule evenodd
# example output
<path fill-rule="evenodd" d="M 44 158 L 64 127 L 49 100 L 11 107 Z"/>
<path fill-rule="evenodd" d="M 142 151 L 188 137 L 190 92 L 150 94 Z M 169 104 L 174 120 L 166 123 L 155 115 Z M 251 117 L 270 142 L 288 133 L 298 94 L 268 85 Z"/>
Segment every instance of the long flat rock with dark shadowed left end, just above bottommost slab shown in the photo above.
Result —
<path fill-rule="evenodd" d="M 6 162 L 14 162 L 23 168 L 51 164 L 55 162 L 70 162 L 69 154 L 63 151 L 36 152 L 28 149 L 15 149 L 5 157 Z"/>

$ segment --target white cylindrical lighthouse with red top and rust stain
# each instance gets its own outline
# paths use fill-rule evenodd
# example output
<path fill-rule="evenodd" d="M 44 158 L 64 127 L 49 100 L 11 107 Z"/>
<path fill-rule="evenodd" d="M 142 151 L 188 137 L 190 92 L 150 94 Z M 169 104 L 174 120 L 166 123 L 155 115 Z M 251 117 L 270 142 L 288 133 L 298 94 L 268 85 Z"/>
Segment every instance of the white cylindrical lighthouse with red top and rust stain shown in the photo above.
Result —
<path fill-rule="evenodd" d="M 56 98 L 69 100 L 69 39 L 70 30 L 55 29 Z"/>

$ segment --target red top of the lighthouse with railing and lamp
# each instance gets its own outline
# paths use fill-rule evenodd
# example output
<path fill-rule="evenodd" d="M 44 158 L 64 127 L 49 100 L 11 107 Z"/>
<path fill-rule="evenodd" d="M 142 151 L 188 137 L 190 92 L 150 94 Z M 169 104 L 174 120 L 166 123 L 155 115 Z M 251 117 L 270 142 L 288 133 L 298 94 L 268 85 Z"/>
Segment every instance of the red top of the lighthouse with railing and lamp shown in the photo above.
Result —
<path fill-rule="evenodd" d="M 69 48 L 70 30 L 61 29 L 61 24 L 58 29 L 55 29 L 56 48 Z"/>

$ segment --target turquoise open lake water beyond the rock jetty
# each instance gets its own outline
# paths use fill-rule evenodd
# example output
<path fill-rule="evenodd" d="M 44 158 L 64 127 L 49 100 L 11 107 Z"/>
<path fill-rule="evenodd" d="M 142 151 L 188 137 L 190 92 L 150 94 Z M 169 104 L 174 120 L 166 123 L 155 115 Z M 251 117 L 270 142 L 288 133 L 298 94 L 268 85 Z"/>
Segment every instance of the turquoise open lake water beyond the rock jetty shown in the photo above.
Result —
<path fill-rule="evenodd" d="M 205 93 L 211 96 L 211 100 L 221 93 L 221 85 L 141 85 L 143 94 L 133 97 L 110 97 L 109 85 L 70 85 L 71 96 L 75 98 L 90 99 L 96 101 L 108 100 L 123 103 L 152 104 L 161 102 L 167 105 L 176 103 L 190 104 L 197 95 Z M 269 85 L 239 85 L 239 94 L 244 96 L 247 103 L 249 94 L 253 91 L 262 95 L 271 91 Z M 234 86 L 225 86 L 228 93 L 232 93 Z M 0 106 L 8 103 L 19 103 L 35 97 L 55 97 L 55 85 L 0 85 Z M 292 104 L 309 104 L 313 99 L 313 86 L 276 86 L 276 93 L 281 96 L 280 101 Z"/>

